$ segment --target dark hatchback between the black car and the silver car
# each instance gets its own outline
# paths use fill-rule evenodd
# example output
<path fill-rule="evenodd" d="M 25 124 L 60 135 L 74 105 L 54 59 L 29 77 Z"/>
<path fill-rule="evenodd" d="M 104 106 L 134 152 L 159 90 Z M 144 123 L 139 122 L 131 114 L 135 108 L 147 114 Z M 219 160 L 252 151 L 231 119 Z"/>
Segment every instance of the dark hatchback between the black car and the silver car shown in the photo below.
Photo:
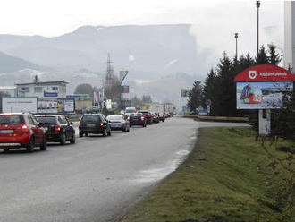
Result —
<path fill-rule="evenodd" d="M 85 114 L 80 118 L 79 136 L 89 136 L 89 133 L 111 135 L 111 125 L 102 114 Z"/>

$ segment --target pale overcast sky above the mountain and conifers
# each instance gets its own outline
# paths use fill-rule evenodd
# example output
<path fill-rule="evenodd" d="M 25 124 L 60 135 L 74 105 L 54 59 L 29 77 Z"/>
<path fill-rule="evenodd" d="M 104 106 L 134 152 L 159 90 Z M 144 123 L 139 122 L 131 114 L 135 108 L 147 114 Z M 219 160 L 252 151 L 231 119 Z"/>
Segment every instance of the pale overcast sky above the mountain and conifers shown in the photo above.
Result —
<path fill-rule="evenodd" d="M 0 34 L 53 37 L 83 25 L 190 23 L 198 50 L 214 63 L 223 51 L 256 52 L 255 0 L 1 0 Z M 260 42 L 283 47 L 283 2 L 261 1 Z"/>

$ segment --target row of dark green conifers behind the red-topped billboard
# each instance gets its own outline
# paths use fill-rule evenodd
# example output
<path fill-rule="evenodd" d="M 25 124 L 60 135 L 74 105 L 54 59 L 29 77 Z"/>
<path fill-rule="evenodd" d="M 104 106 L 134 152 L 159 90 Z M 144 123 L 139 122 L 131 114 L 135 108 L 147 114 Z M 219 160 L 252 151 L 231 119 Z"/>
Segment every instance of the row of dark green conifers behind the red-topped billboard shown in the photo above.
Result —
<path fill-rule="evenodd" d="M 236 84 L 234 77 L 243 70 L 257 64 L 274 64 L 281 62 L 282 57 L 274 44 L 269 44 L 267 49 L 259 48 L 258 55 L 241 55 L 232 59 L 223 53 L 219 64 L 207 73 L 204 83 L 195 81 L 190 91 L 187 106 L 191 112 L 196 112 L 198 107 L 206 107 L 206 100 L 211 100 L 211 115 L 218 116 L 243 116 L 249 115 L 250 110 L 236 109 Z"/>

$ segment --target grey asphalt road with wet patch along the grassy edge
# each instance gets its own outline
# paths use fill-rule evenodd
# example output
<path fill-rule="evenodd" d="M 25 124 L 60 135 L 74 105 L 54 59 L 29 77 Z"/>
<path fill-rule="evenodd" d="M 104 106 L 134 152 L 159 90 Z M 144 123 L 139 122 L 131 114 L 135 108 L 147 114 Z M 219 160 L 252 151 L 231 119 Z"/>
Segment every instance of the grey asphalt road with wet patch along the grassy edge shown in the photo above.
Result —
<path fill-rule="evenodd" d="M 214 125 L 224 124 L 174 117 L 46 151 L 0 151 L 0 221 L 114 221 L 175 170 L 198 127 Z"/>

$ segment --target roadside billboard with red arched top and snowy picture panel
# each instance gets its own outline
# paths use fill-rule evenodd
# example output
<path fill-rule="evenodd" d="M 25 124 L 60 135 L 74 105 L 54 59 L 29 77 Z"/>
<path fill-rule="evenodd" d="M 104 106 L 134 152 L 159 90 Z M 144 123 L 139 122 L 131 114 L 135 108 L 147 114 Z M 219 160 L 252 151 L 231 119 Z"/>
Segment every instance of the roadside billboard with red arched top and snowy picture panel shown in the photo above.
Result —
<path fill-rule="evenodd" d="M 274 109 L 282 107 L 282 97 L 293 90 L 295 75 L 282 67 L 262 64 L 239 73 L 237 109 Z"/>

